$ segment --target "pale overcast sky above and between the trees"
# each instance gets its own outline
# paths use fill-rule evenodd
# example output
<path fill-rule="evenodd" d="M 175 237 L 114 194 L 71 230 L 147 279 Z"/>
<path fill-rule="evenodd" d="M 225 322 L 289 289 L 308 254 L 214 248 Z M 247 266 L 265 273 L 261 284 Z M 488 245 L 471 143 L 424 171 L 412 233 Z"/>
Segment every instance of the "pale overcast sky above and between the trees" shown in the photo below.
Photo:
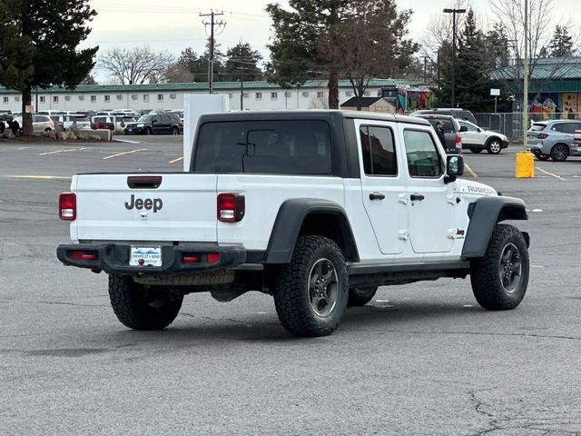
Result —
<path fill-rule="evenodd" d="M 472 0 L 471 5 L 482 19 L 492 19 L 489 14 L 489 1 Z M 531 0 L 536 1 L 536 0 Z M 268 55 L 265 45 L 271 35 L 271 20 L 264 12 L 269 1 L 261 0 L 92 0 L 98 12 L 92 23 L 93 32 L 84 45 L 100 45 L 105 51 L 115 46 L 149 45 L 155 51 L 168 50 L 176 57 L 182 49 L 192 46 L 202 53 L 207 41 L 206 31 L 209 27 L 202 25 L 202 20 L 210 17 L 200 14 L 223 11 L 216 16 L 216 21 L 225 22 L 225 27 L 217 28 L 216 41 L 225 52 L 228 47 L 238 42 L 248 42 L 263 55 Z M 280 1 L 288 5 L 287 1 Z M 414 11 L 410 36 L 421 41 L 425 36 L 425 26 L 430 15 L 440 14 L 445 7 L 455 4 L 454 0 L 399 0 L 399 8 L 410 8 Z M 581 0 L 554 0 L 555 22 L 571 20 L 576 26 L 581 25 Z M 554 27 L 549 25 L 550 29 Z M 550 32 L 550 30 L 549 30 Z M 103 73 L 98 73 L 99 80 L 104 80 Z"/>

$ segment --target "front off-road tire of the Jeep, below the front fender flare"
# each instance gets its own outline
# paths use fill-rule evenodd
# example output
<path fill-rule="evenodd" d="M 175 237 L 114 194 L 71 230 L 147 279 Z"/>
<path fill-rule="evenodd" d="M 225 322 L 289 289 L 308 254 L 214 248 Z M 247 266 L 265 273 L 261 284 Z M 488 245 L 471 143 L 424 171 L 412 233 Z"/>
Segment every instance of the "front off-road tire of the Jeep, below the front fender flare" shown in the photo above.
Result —
<path fill-rule="evenodd" d="M 507 257 L 508 253 L 512 255 Z M 484 257 L 471 264 L 470 282 L 478 304 L 489 311 L 516 308 L 527 292 L 529 269 L 522 233 L 512 225 L 497 224 Z"/>

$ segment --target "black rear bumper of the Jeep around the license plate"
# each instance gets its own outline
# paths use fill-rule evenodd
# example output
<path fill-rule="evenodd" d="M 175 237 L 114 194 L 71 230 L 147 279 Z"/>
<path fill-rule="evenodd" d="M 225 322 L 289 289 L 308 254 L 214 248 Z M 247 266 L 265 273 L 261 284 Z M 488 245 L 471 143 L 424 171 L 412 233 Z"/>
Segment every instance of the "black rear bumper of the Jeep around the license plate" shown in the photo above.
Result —
<path fill-rule="evenodd" d="M 147 245 L 141 243 L 140 245 Z M 157 245 L 157 244 L 151 244 Z M 70 252 L 89 252 L 96 259 L 81 260 L 73 258 Z M 219 254 L 216 262 L 208 262 L 208 254 Z M 232 268 L 246 261 L 246 250 L 242 247 L 219 247 L 217 245 L 162 246 L 162 266 L 131 266 L 129 264 L 130 245 L 103 244 L 61 244 L 56 256 L 65 265 L 87 268 L 94 272 L 107 272 L 119 275 L 172 275 L 186 272 L 212 271 Z M 198 262 L 184 262 L 183 257 L 197 257 Z M 212 257 L 216 257 L 215 254 Z"/>

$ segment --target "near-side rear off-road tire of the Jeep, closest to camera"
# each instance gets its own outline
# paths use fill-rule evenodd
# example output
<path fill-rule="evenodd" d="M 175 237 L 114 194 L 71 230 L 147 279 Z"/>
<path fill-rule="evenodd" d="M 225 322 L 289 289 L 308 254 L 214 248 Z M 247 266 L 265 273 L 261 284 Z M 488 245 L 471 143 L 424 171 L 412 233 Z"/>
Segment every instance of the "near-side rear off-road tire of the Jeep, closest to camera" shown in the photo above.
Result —
<path fill-rule="evenodd" d="M 330 280 L 330 286 L 323 291 L 319 282 L 311 281 L 321 276 L 315 268 L 326 261 L 332 266 L 335 282 Z M 323 236 L 301 236 L 291 263 L 282 267 L 275 281 L 274 305 L 282 326 L 297 336 L 326 336 L 334 332 L 347 308 L 348 281 L 345 258 L 337 243 Z M 334 295 L 328 314 L 316 312 L 319 308 L 315 308 L 313 300 L 317 301 L 320 295 L 318 289 L 321 295 L 323 292 L 329 295 L 328 301 L 333 299 L 331 293 Z"/>

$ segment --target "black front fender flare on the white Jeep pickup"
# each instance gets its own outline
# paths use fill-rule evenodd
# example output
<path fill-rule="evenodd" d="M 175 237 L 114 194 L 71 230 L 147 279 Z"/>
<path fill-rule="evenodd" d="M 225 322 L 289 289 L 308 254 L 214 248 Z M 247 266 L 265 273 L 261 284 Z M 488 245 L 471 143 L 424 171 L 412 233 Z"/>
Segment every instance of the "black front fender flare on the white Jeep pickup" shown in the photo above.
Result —
<path fill-rule="evenodd" d="M 525 202 L 519 198 L 502 196 L 478 198 L 468 206 L 468 216 L 470 223 L 462 247 L 464 258 L 484 256 L 497 223 L 505 220 L 528 219 Z M 530 243 L 528 233 L 523 232 L 523 236 L 528 246 Z"/>

